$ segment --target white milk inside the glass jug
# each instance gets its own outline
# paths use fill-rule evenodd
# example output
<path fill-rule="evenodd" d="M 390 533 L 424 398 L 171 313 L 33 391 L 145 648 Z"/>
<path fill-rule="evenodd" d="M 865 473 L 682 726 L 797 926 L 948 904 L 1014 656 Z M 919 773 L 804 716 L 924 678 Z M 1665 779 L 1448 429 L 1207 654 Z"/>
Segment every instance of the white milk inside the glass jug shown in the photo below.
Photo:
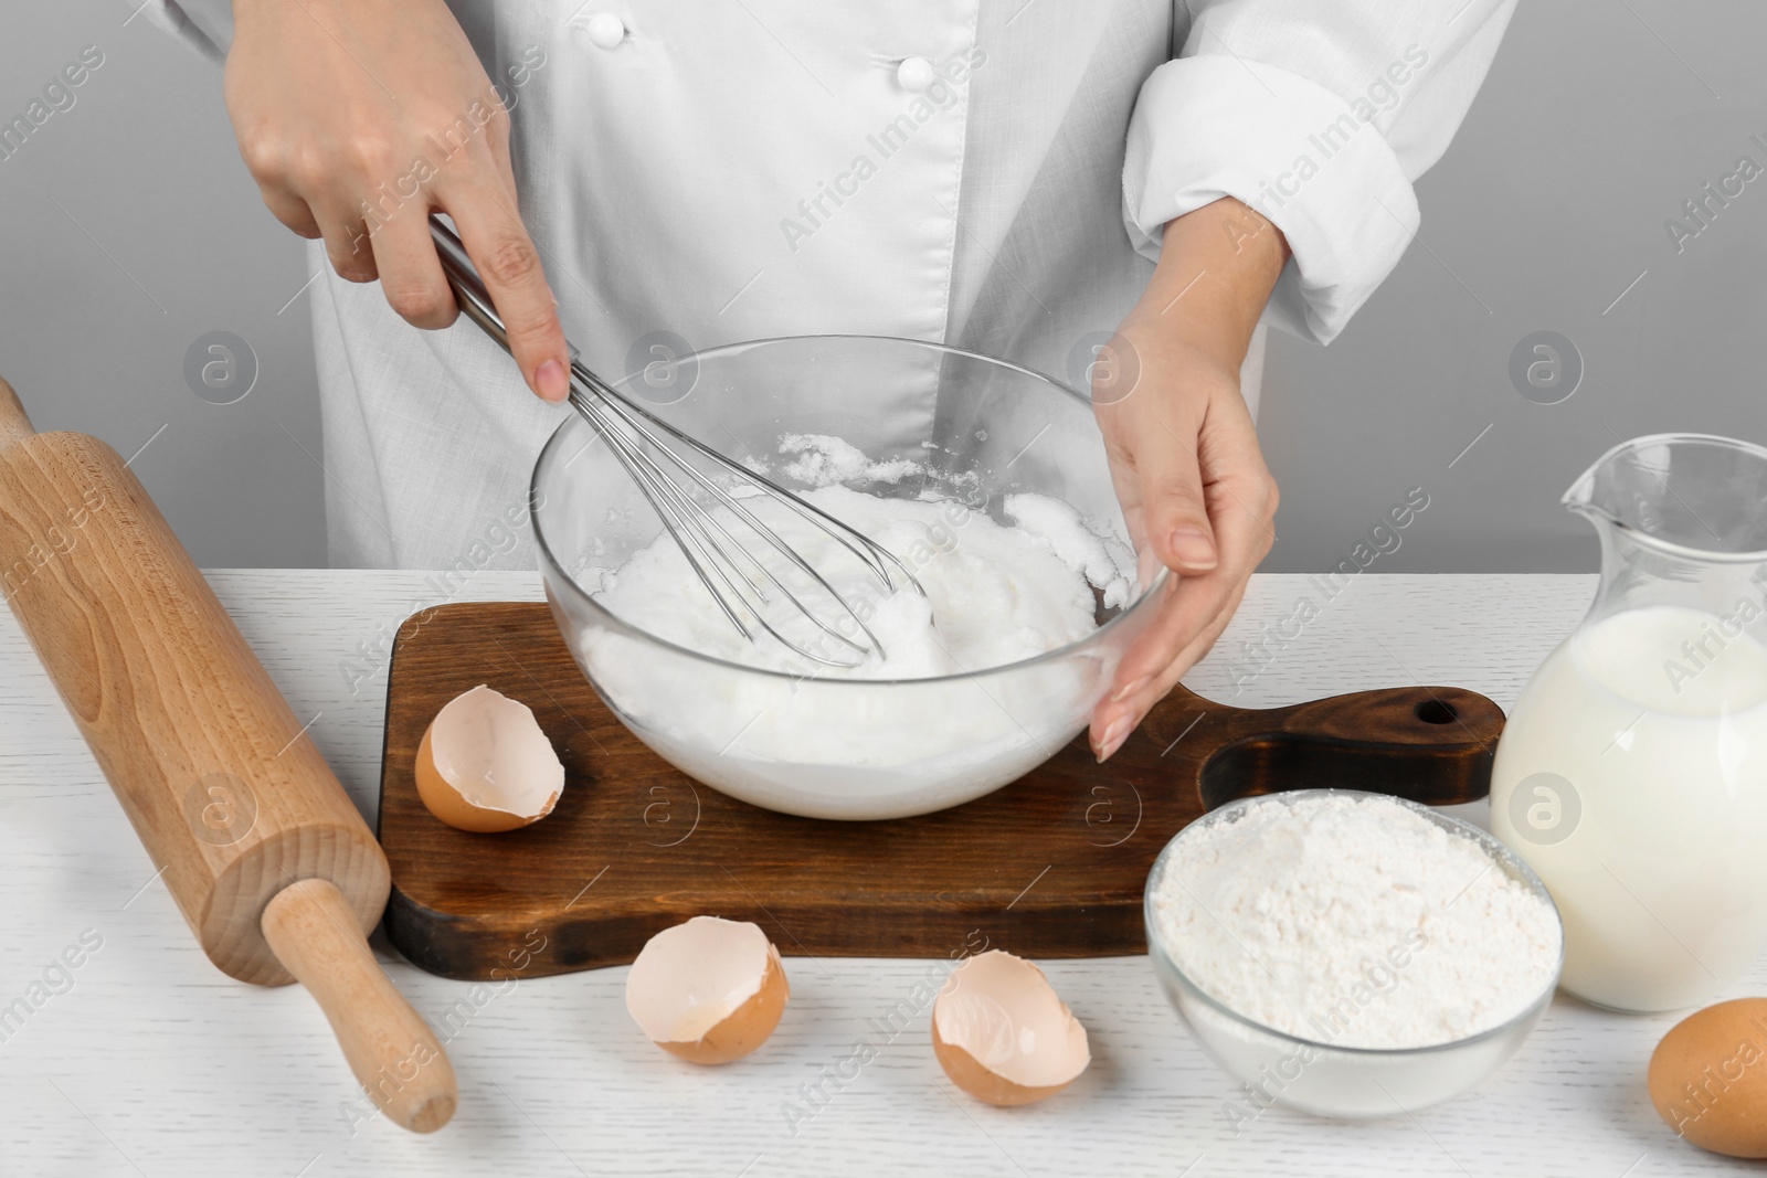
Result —
<path fill-rule="evenodd" d="M 1767 646 L 1675 606 L 1580 627 L 1516 701 L 1491 830 L 1564 915 L 1564 989 L 1705 1003 L 1767 945 Z"/>

